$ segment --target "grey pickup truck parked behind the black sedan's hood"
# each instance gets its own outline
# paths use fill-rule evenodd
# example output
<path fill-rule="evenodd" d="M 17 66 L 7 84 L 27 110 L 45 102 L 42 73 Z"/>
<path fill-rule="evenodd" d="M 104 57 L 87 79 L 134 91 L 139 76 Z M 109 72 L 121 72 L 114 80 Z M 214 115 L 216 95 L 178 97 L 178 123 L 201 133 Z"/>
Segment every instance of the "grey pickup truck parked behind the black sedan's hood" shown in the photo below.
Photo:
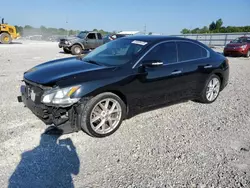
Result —
<path fill-rule="evenodd" d="M 95 49 L 104 43 L 101 33 L 82 31 L 75 37 L 60 39 L 59 48 L 65 53 L 80 55 L 84 50 Z"/>

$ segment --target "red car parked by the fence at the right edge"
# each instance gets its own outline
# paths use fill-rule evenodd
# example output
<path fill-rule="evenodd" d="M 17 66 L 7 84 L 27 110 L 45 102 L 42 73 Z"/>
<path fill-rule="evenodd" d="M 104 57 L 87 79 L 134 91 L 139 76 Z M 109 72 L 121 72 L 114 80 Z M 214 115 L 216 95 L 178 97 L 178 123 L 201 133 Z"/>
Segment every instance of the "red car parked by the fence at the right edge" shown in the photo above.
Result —
<path fill-rule="evenodd" d="M 224 55 L 250 57 L 250 37 L 243 36 L 232 40 L 225 46 Z"/>

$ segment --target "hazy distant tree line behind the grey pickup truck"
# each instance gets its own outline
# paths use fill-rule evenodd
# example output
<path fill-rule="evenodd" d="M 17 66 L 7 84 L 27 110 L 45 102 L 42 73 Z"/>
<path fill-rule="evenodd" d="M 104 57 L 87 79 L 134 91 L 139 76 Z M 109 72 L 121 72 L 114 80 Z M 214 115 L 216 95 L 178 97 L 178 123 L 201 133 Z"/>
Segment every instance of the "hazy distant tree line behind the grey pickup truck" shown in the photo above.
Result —
<path fill-rule="evenodd" d="M 30 25 L 25 25 L 24 27 L 22 26 L 17 26 L 15 25 L 17 32 L 21 36 L 30 36 L 30 35 L 43 35 L 43 36 L 51 36 L 51 35 L 77 35 L 80 30 L 67 30 L 64 28 L 52 28 L 52 27 L 45 27 L 41 26 L 39 28 L 32 27 Z M 102 29 L 93 29 L 93 31 L 100 32 L 103 36 L 107 35 L 111 32 L 104 31 Z"/>

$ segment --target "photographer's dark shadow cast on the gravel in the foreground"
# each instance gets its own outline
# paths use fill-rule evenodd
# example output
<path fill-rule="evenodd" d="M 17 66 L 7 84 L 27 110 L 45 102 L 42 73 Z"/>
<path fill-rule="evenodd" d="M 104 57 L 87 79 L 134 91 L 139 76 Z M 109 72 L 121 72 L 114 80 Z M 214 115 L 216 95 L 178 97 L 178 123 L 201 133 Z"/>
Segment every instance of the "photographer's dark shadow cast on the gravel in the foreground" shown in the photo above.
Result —
<path fill-rule="evenodd" d="M 42 134 L 40 145 L 24 152 L 9 188 L 73 188 L 72 174 L 79 173 L 80 161 L 70 138 Z"/>

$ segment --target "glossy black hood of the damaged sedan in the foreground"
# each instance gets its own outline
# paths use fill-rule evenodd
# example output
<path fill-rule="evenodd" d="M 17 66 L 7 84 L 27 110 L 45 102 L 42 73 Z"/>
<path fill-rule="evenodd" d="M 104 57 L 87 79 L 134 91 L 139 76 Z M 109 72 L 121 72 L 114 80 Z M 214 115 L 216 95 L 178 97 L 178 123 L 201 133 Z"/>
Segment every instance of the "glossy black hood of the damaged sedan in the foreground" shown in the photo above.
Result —
<path fill-rule="evenodd" d="M 86 73 L 96 75 L 94 72 L 102 70 L 106 72 L 108 69 L 111 67 L 91 64 L 77 57 L 70 57 L 37 65 L 24 73 L 24 79 L 37 84 L 50 85 L 62 79 L 75 78 L 79 75 L 86 75 Z"/>

